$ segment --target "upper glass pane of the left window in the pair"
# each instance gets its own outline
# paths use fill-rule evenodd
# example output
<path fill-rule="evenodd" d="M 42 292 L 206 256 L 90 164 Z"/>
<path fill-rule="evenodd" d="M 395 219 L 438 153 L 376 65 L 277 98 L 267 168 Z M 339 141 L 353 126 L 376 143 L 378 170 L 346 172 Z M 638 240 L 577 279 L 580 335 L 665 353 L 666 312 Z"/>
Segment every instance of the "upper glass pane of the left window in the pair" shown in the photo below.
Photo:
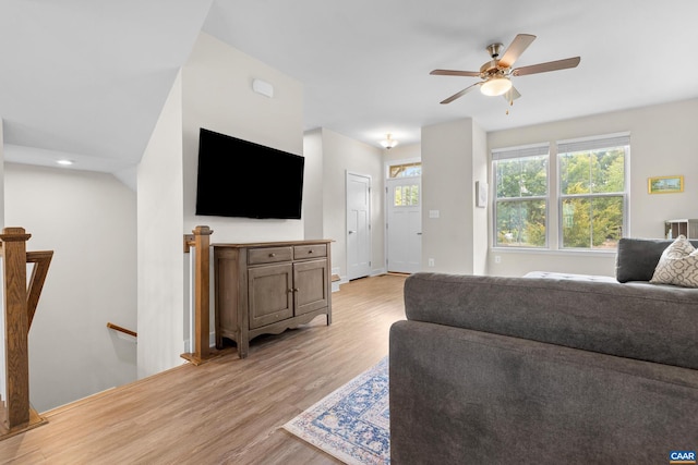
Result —
<path fill-rule="evenodd" d="M 547 194 L 547 156 L 497 160 L 497 198 Z"/>

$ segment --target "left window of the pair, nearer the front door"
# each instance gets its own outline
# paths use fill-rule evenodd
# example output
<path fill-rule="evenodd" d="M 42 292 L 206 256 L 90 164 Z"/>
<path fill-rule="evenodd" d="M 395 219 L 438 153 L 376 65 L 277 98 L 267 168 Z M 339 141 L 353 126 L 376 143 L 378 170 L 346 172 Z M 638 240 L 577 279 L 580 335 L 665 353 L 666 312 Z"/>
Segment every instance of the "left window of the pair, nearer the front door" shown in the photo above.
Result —
<path fill-rule="evenodd" d="M 492 152 L 497 247 L 547 246 L 549 145 Z"/>

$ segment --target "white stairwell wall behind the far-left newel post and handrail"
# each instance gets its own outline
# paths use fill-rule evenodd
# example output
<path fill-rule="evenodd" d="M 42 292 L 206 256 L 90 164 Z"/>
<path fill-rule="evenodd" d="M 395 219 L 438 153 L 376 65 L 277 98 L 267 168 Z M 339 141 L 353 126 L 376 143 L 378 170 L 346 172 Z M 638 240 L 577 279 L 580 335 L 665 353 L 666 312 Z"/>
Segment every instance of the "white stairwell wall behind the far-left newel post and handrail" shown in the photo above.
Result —
<path fill-rule="evenodd" d="M 136 377 L 136 198 L 111 174 L 5 163 L 5 224 L 52 249 L 29 330 L 29 400 L 56 407 Z"/>

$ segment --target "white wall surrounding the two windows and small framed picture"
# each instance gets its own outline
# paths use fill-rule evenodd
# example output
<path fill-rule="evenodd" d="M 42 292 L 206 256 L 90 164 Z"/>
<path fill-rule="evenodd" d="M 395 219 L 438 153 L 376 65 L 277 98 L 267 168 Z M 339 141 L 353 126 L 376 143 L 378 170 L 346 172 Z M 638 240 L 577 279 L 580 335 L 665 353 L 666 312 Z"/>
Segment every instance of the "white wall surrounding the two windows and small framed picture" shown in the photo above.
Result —
<path fill-rule="evenodd" d="M 488 134 L 489 148 L 514 147 L 556 140 L 630 132 L 630 211 L 627 234 L 634 237 L 663 236 L 663 221 L 696 218 L 698 197 L 698 99 L 604 113 L 574 120 L 539 124 Z M 553 151 L 551 156 L 553 156 Z M 551 163 L 555 159 L 551 158 Z M 647 192 L 650 176 L 683 174 L 682 194 Z M 556 206 L 551 206 L 555 209 Z M 553 212 L 554 213 L 554 212 Z M 551 215 L 552 218 L 556 216 Z M 494 256 L 502 262 L 495 264 Z M 614 254 L 575 252 L 531 252 L 494 249 L 490 252 L 489 273 L 520 276 L 532 270 L 571 273 L 615 274 Z"/>

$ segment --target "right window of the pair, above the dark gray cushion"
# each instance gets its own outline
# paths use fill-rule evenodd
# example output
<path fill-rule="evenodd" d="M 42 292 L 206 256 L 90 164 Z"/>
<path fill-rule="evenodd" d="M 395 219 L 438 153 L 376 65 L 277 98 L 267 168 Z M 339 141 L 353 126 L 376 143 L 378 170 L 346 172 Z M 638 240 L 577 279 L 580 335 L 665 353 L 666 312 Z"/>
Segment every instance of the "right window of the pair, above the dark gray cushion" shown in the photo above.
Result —
<path fill-rule="evenodd" d="M 557 143 L 561 248 L 615 249 L 623 236 L 628 135 Z"/>

